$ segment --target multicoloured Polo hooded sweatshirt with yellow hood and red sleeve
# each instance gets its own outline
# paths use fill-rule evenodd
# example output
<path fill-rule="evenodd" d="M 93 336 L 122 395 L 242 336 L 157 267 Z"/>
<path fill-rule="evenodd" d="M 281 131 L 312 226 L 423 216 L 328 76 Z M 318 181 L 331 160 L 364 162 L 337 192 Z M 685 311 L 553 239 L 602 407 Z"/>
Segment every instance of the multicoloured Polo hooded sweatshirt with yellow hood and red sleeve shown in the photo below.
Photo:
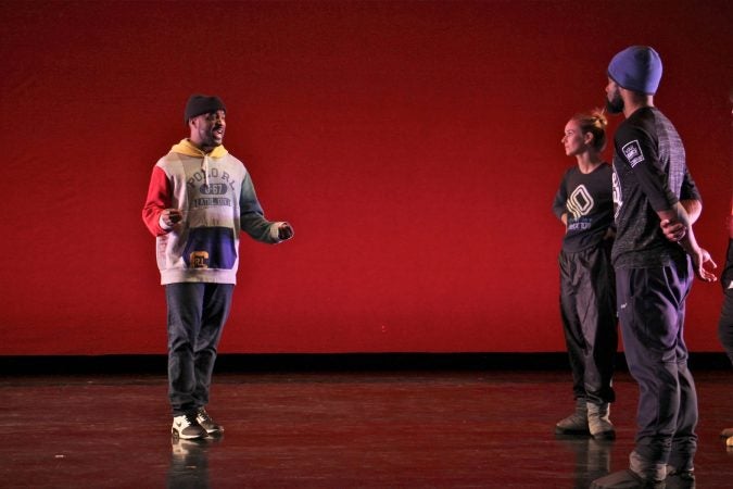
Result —
<path fill-rule="evenodd" d="M 173 227 L 161 218 L 170 208 L 184 214 Z M 257 241 L 280 241 L 280 223 L 265 220 L 242 162 L 223 146 L 205 154 L 188 139 L 155 164 L 142 220 L 156 239 L 163 285 L 236 284 L 240 230 Z"/>

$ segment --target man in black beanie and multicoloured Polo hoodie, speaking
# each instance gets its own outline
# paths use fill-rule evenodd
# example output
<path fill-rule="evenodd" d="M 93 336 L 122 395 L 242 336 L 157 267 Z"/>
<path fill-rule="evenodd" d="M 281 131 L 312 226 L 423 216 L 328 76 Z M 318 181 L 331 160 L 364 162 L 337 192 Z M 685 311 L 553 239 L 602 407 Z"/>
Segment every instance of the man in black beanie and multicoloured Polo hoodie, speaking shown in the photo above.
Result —
<path fill-rule="evenodd" d="M 222 146 L 226 108 L 218 97 L 191 96 L 185 123 L 190 137 L 155 164 L 142 220 L 155 236 L 168 308 L 172 434 L 197 439 L 224 431 L 205 406 L 237 283 L 240 230 L 278 243 L 293 229 L 264 217 L 250 174 Z"/>

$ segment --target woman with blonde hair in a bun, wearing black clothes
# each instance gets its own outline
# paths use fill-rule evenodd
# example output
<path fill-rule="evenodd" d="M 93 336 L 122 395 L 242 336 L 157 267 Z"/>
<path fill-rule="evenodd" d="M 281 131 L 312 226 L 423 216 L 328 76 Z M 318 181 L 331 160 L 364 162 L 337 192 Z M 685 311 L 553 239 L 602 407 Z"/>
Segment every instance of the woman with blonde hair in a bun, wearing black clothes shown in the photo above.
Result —
<path fill-rule="evenodd" d="M 566 233 L 558 259 L 560 313 L 572 371 L 576 410 L 555 426 L 561 435 L 614 439 L 609 419 L 618 346 L 612 168 L 603 160 L 607 120 L 602 111 L 578 114 L 565 126 L 563 145 L 576 165 L 560 183 L 553 211 Z"/>

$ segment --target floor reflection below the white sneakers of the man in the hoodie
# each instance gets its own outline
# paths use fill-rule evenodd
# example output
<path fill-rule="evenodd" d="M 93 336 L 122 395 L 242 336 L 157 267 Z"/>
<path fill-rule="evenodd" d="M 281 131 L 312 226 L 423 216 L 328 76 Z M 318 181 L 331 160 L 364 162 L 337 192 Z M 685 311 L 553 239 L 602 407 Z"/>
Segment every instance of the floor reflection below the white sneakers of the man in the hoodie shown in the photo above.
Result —
<path fill-rule="evenodd" d="M 182 440 L 170 437 L 168 489 L 208 489 L 208 450 L 223 437 Z"/>

